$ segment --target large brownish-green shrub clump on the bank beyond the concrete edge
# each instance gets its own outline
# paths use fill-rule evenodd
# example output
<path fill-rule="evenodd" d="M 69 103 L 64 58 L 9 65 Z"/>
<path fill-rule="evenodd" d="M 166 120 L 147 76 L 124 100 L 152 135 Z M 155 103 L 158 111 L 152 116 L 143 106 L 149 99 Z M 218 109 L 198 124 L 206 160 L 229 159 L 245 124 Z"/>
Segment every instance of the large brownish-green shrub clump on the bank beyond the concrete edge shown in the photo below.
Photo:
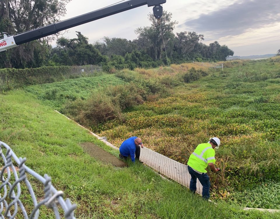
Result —
<path fill-rule="evenodd" d="M 48 92 L 49 98 L 56 97 L 56 90 Z M 142 104 L 146 91 L 135 84 L 108 86 L 100 88 L 88 100 L 67 102 L 62 109 L 64 114 L 87 127 L 97 127 L 108 120 L 123 120 L 122 110 Z M 67 98 L 67 96 L 66 96 Z M 69 99 L 72 99 L 69 96 Z"/>

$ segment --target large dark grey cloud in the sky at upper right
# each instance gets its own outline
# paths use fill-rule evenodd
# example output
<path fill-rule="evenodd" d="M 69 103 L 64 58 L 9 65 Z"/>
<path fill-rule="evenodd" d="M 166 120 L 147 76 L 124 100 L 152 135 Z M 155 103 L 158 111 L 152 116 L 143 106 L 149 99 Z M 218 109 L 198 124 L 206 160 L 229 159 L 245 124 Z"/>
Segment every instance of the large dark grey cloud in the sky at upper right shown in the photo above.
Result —
<path fill-rule="evenodd" d="M 279 0 L 243 0 L 239 3 L 186 20 L 181 27 L 217 39 L 236 36 L 250 29 L 280 22 Z"/>

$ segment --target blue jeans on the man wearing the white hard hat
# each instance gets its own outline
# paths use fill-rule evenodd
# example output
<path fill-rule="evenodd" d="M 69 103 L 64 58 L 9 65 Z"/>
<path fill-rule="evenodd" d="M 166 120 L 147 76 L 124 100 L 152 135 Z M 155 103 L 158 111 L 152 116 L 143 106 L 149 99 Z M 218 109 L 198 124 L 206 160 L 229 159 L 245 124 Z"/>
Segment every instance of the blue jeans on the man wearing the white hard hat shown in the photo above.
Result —
<path fill-rule="evenodd" d="M 206 200 L 210 198 L 210 180 L 207 173 L 199 174 L 195 172 L 190 166 L 188 166 L 188 171 L 191 175 L 190 180 L 190 191 L 195 193 L 196 191 L 196 180 L 198 179 L 202 185 L 202 197 Z"/>

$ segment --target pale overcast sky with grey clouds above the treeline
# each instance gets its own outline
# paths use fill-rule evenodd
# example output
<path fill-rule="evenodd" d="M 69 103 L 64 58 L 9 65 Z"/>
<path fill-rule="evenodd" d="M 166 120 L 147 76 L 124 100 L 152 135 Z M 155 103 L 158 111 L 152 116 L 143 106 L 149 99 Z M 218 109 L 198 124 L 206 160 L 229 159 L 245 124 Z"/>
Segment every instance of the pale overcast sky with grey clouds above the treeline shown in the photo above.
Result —
<path fill-rule="evenodd" d="M 72 0 L 61 20 L 88 13 L 120 0 Z M 204 43 L 218 41 L 234 51 L 234 55 L 264 55 L 280 49 L 279 0 L 167 0 L 164 10 L 178 21 L 174 33 L 195 31 L 204 34 Z M 141 6 L 107 18 L 69 29 L 65 37 L 75 38 L 75 31 L 90 43 L 103 36 L 133 40 L 134 30 L 150 26 L 148 13 L 152 7 Z M 55 44 L 55 42 L 53 42 Z"/>

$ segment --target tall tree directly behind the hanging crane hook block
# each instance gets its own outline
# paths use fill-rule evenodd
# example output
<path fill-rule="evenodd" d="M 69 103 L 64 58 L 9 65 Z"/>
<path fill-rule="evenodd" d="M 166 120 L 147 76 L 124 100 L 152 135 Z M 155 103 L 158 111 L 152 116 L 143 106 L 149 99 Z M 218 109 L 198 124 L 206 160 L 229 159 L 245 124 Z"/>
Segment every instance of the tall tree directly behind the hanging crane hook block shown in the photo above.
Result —
<path fill-rule="evenodd" d="M 160 60 L 163 51 L 162 37 L 165 44 L 168 44 L 168 41 L 174 36 L 173 30 L 178 22 L 171 21 L 172 13 L 167 13 L 167 11 L 163 11 L 160 22 L 151 13 L 148 15 L 148 18 L 152 25 L 150 27 L 137 28 L 135 33 L 138 34 L 138 39 L 134 42 L 139 50 L 144 49 L 154 60 Z"/>

